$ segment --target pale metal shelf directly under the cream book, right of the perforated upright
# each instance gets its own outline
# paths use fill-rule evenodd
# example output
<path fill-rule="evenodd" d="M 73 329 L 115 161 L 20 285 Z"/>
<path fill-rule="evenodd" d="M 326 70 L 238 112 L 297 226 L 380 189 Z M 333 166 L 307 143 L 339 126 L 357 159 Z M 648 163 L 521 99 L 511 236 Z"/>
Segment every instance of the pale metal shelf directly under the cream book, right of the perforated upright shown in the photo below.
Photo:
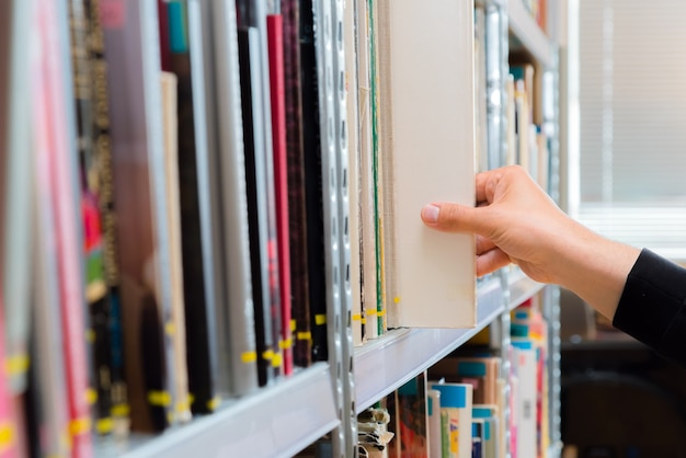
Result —
<path fill-rule="evenodd" d="M 473 329 L 397 329 L 356 348 L 354 356 L 356 410 L 362 412 L 441 360 L 503 312 L 500 280 L 478 291 Z"/>

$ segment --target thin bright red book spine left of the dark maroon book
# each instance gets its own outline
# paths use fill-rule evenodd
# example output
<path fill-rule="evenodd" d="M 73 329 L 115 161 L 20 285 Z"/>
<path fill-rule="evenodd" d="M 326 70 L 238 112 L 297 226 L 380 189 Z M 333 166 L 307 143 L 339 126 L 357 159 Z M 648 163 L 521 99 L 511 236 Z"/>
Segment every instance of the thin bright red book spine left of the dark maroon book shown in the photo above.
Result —
<path fill-rule="evenodd" d="M 272 102 L 272 137 L 274 148 L 274 187 L 278 240 L 282 339 L 284 374 L 293 373 L 293 337 L 290 330 L 290 250 L 288 231 L 288 165 L 286 153 L 286 90 L 284 77 L 284 27 L 281 14 L 266 18 L 270 54 Z"/>

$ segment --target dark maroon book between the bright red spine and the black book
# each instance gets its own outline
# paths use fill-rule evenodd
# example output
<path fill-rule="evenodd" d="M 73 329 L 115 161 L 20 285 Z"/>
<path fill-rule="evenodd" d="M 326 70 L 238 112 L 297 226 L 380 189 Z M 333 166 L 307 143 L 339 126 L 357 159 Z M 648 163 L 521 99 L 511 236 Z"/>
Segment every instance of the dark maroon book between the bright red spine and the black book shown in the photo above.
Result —
<path fill-rule="evenodd" d="M 284 21 L 284 77 L 286 103 L 286 154 L 288 167 L 288 233 L 294 364 L 307 367 L 312 354 L 310 328 L 309 267 L 305 191 L 302 93 L 300 81 L 299 0 L 282 0 Z"/>

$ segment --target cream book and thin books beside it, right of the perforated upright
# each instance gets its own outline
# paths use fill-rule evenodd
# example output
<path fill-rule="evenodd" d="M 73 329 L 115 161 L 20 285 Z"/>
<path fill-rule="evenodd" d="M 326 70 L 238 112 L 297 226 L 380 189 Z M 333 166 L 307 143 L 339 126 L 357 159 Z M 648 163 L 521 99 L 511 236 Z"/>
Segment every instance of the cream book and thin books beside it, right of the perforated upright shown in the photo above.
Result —
<path fill-rule="evenodd" d="M 398 327 L 475 325 L 473 239 L 419 217 L 431 202 L 473 205 L 472 31 L 472 2 L 345 2 L 356 345 Z"/>

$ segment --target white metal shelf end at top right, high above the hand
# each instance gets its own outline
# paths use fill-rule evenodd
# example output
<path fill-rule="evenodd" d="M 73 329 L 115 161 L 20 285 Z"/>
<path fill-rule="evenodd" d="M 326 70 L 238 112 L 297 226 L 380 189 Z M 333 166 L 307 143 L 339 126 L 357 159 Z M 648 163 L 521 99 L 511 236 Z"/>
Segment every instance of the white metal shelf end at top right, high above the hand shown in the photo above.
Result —
<path fill-rule="evenodd" d="M 553 66 L 551 42 L 522 0 L 507 1 L 507 22 L 511 35 L 510 50 L 523 49 L 545 68 L 551 68 Z"/>

